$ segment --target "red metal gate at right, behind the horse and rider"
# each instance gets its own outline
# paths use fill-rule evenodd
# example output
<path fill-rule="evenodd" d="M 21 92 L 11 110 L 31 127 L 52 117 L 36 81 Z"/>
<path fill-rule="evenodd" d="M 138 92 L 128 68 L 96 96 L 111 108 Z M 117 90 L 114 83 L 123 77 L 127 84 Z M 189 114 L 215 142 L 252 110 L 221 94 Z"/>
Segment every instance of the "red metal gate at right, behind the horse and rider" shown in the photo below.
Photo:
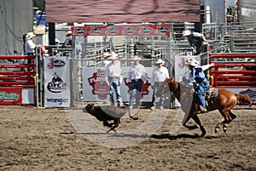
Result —
<path fill-rule="evenodd" d="M 256 54 L 211 54 L 210 75 L 217 88 L 256 88 Z"/>

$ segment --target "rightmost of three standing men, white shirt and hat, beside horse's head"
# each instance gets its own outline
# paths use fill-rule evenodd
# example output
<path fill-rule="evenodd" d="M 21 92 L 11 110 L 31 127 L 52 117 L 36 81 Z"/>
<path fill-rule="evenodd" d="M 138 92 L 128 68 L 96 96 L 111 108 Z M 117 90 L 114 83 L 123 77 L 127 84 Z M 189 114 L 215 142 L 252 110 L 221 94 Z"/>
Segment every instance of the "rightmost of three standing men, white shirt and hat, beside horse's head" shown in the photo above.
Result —
<path fill-rule="evenodd" d="M 152 79 L 151 83 L 153 83 L 152 88 L 153 88 L 153 96 L 152 96 L 152 107 L 151 109 L 155 109 L 155 101 L 156 101 L 156 95 L 155 93 L 157 92 L 158 88 L 160 88 L 161 84 L 163 84 L 166 81 L 166 78 L 169 77 L 169 71 L 165 66 L 164 60 L 157 60 L 156 65 L 157 67 L 154 68 L 152 71 Z M 160 109 L 164 108 L 164 100 L 165 100 L 165 94 L 160 94 Z"/>

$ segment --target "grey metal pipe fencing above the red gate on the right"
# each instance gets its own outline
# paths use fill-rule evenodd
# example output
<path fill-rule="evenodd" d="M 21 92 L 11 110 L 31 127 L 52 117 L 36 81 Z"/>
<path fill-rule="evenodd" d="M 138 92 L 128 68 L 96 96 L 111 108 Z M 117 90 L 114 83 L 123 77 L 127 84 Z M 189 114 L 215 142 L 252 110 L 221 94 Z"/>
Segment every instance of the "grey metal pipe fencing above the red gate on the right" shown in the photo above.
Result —
<path fill-rule="evenodd" d="M 202 33 L 207 38 L 214 53 L 255 53 L 256 24 L 203 24 Z"/>

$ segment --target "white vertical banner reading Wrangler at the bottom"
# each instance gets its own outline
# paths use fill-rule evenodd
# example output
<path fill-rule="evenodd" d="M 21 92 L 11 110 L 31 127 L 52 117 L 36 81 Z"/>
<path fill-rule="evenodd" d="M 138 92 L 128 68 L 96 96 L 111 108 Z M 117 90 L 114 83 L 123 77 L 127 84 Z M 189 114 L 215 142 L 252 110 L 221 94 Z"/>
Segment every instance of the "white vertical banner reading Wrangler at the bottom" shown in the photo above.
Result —
<path fill-rule="evenodd" d="M 44 57 L 44 106 L 70 107 L 70 98 L 68 57 Z"/>

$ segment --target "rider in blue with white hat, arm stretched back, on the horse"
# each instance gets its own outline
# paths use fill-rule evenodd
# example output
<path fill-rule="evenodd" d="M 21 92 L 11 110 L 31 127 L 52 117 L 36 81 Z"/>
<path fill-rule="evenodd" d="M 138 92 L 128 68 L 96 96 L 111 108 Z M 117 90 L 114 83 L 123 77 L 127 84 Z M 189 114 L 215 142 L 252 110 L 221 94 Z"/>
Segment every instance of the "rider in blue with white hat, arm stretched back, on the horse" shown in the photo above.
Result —
<path fill-rule="evenodd" d="M 207 112 L 207 103 L 203 94 L 207 92 L 209 83 L 204 71 L 206 71 L 211 66 L 214 66 L 214 64 L 212 63 L 205 66 L 198 66 L 199 61 L 194 60 L 193 58 L 186 60 L 185 64 L 190 70 L 189 82 L 192 83 L 195 87 L 195 95 L 199 99 L 199 108 L 201 113 L 205 113 Z"/>

